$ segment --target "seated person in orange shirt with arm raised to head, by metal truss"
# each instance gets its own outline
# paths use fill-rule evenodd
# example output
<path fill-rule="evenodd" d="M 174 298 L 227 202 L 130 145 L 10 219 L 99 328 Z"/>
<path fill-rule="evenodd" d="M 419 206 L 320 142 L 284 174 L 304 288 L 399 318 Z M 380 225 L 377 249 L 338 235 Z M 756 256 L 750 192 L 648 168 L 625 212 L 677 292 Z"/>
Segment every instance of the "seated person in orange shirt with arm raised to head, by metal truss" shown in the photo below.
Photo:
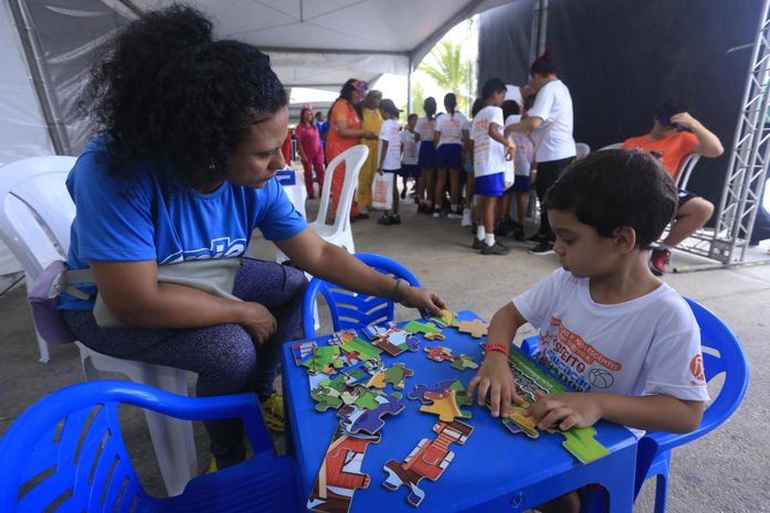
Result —
<path fill-rule="evenodd" d="M 661 104 L 655 109 L 655 122 L 650 133 L 626 139 L 623 149 L 642 150 L 656 157 L 674 180 L 688 154 L 714 158 L 725 152 L 719 138 L 690 116 L 686 105 L 675 101 Z M 652 250 L 650 269 L 662 276 L 671 260 L 671 248 L 706 224 L 713 213 L 711 202 L 679 189 L 674 223 L 668 236 Z"/>

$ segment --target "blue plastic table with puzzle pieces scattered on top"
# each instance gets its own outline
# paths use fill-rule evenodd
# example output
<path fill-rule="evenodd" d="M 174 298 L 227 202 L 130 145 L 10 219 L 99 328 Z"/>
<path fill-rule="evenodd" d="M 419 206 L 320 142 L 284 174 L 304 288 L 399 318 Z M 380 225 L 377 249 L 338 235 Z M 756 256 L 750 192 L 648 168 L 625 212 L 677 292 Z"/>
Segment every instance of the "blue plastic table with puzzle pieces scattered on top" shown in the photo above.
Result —
<path fill-rule="evenodd" d="M 461 312 L 460 318 L 473 319 L 473 312 Z M 415 384 L 434 385 L 439 381 L 461 380 L 464 385 L 476 371 L 457 371 L 450 362 L 436 363 L 426 359 L 423 348 L 444 345 L 454 354 L 473 355 L 482 362 L 479 340 L 456 329 L 444 329 L 446 340 L 420 343 L 416 353 L 404 352 L 397 357 L 382 353 L 388 366 L 403 362 L 414 371 L 405 381 L 402 392 L 405 409 L 397 416 L 386 416 L 379 443 L 370 443 L 362 470 L 371 482 L 369 488 L 356 491 L 351 513 L 373 511 L 409 511 L 408 488 L 391 492 L 382 487 L 387 472 L 382 466 L 390 459 L 402 461 L 422 438 L 433 439 L 432 430 L 437 416 L 421 413 L 420 403 L 407 398 Z M 315 339 L 326 345 L 329 336 Z M 336 410 L 315 410 L 310 397 L 307 372 L 296 366 L 291 343 L 284 345 L 284 394 L 288 414 L 287 450 L 293 453 L 300 469 L 304 499 L 310 492 L 318 469 L 337 426 Z M 391 392 L 390 385 L 386 388 Z M 473 434 L 465 445 L 452 443 L 454 461 L 435 482 L 423 479 L 420 488 L 425 491 L 422 504 L 415 512 L 453 511 L 506 511 L 520 512 L 562 495 L 589 483 L 600 483 L 610 493 L 611 512 L 631 512 L 633 506 L 634 471 L 636 464 L 636 437 L 622 426 L 600 421 L 594 427 L 597 439 L 611 455 L 588 466 L 581 464 L 561 447 L 563 437 L 542 432 L 530 440 L 524 434 L 511 435 L 499 419 L 493 418 L 486 408 L 474 404 L 467 407 L 473 418 L 464 420 L 473 426 Z"/>

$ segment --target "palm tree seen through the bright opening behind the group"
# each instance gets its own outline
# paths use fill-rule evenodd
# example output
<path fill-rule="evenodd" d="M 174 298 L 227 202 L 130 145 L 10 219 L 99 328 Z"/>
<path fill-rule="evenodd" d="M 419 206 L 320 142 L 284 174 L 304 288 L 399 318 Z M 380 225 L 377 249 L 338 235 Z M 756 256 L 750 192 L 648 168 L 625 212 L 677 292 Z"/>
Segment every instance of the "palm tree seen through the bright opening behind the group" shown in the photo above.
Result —
<path fill-rule="evenodd" d="M 432 61 L 428 64 L 425 61 Z M 457 95 L 457 109 L 467 114 L 471 95 L 467 90 L 468 77 L 472 73 L 471 62 L 462 58 L 460 43 L 441 41 L 433 46 L 428 58 L 418 66 L 418 70 L 431 77 L 439 87 L 446 93 Z M 441 100 L 439 104 L 441 104 Z M 441 108 L 441 107 L 440 107 Z"/>

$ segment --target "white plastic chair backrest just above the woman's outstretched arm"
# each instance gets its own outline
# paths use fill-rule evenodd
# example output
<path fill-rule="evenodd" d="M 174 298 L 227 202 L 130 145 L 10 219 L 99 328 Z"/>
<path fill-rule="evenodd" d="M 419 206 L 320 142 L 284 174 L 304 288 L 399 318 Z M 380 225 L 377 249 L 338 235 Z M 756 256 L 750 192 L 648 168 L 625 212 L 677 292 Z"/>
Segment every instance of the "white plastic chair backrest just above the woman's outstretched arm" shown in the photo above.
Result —
<path fill-rule="evenodd" d="M 342 151 L 340 154 L 335 157 L 329 165 L 326 168 L 326 179 L 324 180 L 324 190 L 320 193 L 320 205 L 318 206 L 318 216 L 314 223 L 326 224 L 326 217 L 329 210 L 329 203 L 331 201 L 331 182 L 335 171 L 342 163 L 345 163 L 345 182 L 342 183 L 342 192 L 340 193 L 339 201 L 337 202 L 337 210 L 339 212 L 346 213 L 345 215 L 337 215 L 335 212 L 335 233 L 340 233 L 345 229 L 350 229 L 350 216 L 347 212 L 350 212 L 350 205 L 352 205 L 352 195 L 358 185 L 358 173 L 361 171 L 363 162 L 367 160 L 369 154 L 369 148 L 365 145 L 357 145 Z"/>

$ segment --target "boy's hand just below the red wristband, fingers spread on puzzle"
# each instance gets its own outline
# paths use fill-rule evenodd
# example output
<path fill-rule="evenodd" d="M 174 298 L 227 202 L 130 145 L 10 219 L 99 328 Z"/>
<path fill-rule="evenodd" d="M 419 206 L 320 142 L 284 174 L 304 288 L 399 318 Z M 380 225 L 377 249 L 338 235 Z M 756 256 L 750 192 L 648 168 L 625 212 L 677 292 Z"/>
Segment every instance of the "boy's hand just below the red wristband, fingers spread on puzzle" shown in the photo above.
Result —
<path fill-rule="evenodd" d="M 492 351 L 484 359 L 478 374 L 471 380 L 467 395 L 473 396 L 478 387 L 478 404 L 486 404 L 487 394 L 489 395 L 489 409 L 493 417 L 507 417 L 510 410 L 510 403 L 524 403 L 524 399 L 516 393 L 514 376 L 508 368 L 508 356 L 499 351 Z"/>

